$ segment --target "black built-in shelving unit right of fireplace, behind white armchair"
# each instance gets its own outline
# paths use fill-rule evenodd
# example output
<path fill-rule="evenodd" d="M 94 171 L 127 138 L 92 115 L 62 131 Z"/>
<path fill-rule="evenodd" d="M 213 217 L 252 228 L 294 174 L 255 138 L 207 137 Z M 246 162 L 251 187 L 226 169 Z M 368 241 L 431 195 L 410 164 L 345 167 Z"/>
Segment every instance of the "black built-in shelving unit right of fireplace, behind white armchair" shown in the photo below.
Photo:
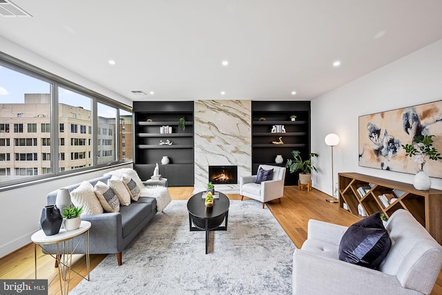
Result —
<path fill-rule="evenodd" d="M 296 121 L 290 116 L 296 115 Z M 260 121 L 260 118 L 265 121 Z M 272 133 L 274 125 L 283 125 L 286 132 Z M 283 144 L 273 144 L 282 137 Z M 302 158 L 310 153 L 310 102 L 258 102 L 252 101 L 252 172 L 259 164 L 285 166 L 291 151 L 298 150 Z M 276 155 L 282 155 L 284 162 L 275 163 Z M 298 173 L 289 173 L 286 185 L 298 185 Z"/>

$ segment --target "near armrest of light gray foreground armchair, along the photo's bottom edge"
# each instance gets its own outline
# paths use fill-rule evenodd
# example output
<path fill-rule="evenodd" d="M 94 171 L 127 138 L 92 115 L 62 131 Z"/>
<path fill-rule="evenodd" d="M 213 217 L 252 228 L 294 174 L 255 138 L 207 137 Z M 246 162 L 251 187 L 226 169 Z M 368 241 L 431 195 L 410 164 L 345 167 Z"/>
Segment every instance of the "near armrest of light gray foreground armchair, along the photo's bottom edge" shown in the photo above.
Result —
<path fill-rule="evenodd" d="M 404 289 L 396 276 L 296 249 L 293 256 L 293 294 L 421 293 Z"/>

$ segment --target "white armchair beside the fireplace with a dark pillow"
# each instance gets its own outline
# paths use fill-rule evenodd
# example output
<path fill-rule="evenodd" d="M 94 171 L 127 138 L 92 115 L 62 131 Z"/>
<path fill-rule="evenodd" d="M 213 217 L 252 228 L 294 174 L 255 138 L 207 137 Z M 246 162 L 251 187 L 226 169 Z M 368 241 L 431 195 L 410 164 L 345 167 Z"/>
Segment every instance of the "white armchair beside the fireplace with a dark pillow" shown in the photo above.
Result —
<path fill-rule="evenodd" d="M 262 209 L 264 209 L 265 202 L 275 199 L 279 199 L 279 202 L 281 202 L 281 198 L 284 196 L 285 167 L 260 165 L 258 171 L 260 168 L 264 170 L 273 169 L 271 180 L 258 184 L 255 183 L 256 175 L 242 176 L 240 178 L 240 195 L 241 200 L 246 196 L 262 202 Z"/>

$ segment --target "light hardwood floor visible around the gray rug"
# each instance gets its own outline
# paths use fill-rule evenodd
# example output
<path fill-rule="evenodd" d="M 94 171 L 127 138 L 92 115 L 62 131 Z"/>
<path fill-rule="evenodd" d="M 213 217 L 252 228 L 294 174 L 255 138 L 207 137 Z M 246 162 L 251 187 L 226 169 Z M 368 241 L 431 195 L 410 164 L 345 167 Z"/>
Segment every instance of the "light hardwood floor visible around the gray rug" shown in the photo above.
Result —
<path fill-rule="evenodd" d="M 170 187 L 173 200 L 188 200 L 192 196 L 193 187 Z M 241 200 L 238 194 L 228 195 L 231 200 Z M 298 191 L 298 187 L 285 187 L 284 198 L 281 204 L 278 201 L 268 202 L 267 207 L 276 217 L 280 225 L 293 240 L 296 247 L 301 247 L 307 238 L 307 222 L 309 219 L 333 222 L 339 225 L 351 225 L 358 219 L 349 213 L 338 209 L 338 204 L 326 202 L 328 195 L 313 189 L 312 191 Z M 244 202 L 256 202 L 244 198 Z M 256 202 L 256 206 L 261 204 Z M 263 209 L 263 210 L 267 210 Z M 106 255 L 91 255 L 90 268 L 96 267 Z M 123 256 L 124 263 L 124 256 Z M 54 260 L 41 254 L 37 249 L 37 274 L 38 278 L 47 278 L 49 284 L 48 294 L 59 294 L 60 285 Z M 74 267 L 82 275 L 86 275 L 86 263 L 84 256 L 77 255 L 74 259 Z M 115 258 L 115 267 L 116 258 Z M 0 259 L 0 278 L 32 279 L 34 272 L 34 245 L 31 243 Z M 71 275 L 72 276 L 72 275 Z M 91 276 L 93 279 L 93 276 Z M 73 289 L 81 281 L 80 276 L 72 276 L 69 289 Z M 432 294 L 442 294 L 442 272 L 436 281 Z"/>

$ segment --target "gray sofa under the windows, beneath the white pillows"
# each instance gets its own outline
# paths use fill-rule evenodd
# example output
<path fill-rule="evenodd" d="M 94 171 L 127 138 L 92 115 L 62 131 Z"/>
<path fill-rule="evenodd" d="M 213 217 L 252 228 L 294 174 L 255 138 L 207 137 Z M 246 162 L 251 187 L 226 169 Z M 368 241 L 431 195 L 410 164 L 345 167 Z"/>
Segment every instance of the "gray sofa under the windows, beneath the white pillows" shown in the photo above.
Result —
<path fill-rule="evenodd" d="M 98 182 L 107 183 L 111 175 L 88 180 L 93 186 Z M 78 184 L 66 187 L 73 191 Z M 48 193 L 47 204 L 55 204 L 57 191 Z M 117 263 L 122 265 L 122 250 L 148 224 L 157 213 L 155 198 L 140 197 L 136 202 L 131 200 L 129 206 L 120 206 L 119 212 L 100 213 L 81 216 L 81 220 L 91 223 L 90 227 L 90 254 L 117 254 Z M 77 240 L 74 240 L 75 243 Z M 55 245 L 47 245 L 45 249 L 55 254 Z M 84 240 L 81 240 L 75 254 L 84 254 Z"/>

